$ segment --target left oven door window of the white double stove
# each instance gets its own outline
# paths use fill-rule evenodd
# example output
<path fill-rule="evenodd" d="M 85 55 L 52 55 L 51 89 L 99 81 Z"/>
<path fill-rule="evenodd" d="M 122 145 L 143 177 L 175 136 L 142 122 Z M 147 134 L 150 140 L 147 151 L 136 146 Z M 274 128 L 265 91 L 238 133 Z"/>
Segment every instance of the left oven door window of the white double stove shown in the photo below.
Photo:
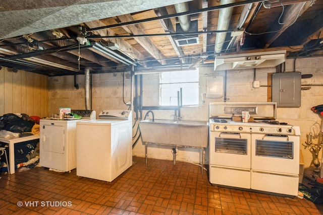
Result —
<path fill-rule="evenodd" d="M 247 155 L 247 139 L 216 137 L 216 152 Z"/>

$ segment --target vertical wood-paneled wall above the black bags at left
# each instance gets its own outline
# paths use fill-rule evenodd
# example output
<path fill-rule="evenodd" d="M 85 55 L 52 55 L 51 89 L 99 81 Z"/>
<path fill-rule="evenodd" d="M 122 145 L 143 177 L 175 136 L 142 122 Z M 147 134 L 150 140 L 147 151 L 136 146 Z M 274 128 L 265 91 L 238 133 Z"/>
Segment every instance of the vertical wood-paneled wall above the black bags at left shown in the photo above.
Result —
<path fill-rule="evenodd" d="M 0 69 L 0 116 L 25 113 L 48 116 L 48 77 L 11 68 Z"/>

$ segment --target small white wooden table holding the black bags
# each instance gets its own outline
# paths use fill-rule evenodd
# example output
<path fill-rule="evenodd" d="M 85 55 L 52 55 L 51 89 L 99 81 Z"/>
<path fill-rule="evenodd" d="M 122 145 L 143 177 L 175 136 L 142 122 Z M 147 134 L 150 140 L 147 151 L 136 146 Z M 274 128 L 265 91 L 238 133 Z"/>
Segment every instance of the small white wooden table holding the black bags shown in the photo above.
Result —
<path fill-rule="evenodd" d="M 38 135 L 24 136 L 24 137 L 16 137 L 16 136 L 0 137 L 0 142 L 1 143 L 9 145 L 9 163 L 10 163 L 9 170 L 10 170 L 10 174 L 15 173 L 15 144 L 19 144 L 21 142 L 25 142 L 25 141 L 29 141 L 29 140 L 33 140 L 33 139 L 39 139 L 39 134 Z"/>

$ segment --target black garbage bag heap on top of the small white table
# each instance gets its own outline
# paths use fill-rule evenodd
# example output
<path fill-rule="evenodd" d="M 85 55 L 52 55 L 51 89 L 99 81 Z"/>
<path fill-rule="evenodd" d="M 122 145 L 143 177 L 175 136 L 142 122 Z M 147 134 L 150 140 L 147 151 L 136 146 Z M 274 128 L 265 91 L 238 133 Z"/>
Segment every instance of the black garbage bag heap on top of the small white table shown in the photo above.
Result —
<path fill-rule="evenodd" d="M 7 113 L 1 117 L 0 129 L 14 133 L 31 132 L 34 124 L 35 123 L 30 120 L 27 114 L 23 114 L 23 117 L 19 117 L 13 113 Z"/>

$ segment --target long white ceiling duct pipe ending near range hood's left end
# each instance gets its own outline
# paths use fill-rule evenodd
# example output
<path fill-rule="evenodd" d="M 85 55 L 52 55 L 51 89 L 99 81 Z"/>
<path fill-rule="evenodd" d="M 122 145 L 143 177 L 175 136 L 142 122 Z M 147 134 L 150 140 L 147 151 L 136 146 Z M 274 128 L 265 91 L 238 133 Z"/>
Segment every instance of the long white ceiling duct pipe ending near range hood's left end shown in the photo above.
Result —
<path fill-rule="evenodd" d="M 234 0 L 221 0 L 221 5 L 227 5 L 234 3 Z M 230 20 L 233 12 L 233 7 L 220 9 L 219 19 L 218 19 L 218 29 L 217 30 L 228 30 L 230 25 Z M 221 53 L 222 47 L 226 40 L 227 33 L 217 33 L 216 45 L 214 47 L 215 53 Z"/>

